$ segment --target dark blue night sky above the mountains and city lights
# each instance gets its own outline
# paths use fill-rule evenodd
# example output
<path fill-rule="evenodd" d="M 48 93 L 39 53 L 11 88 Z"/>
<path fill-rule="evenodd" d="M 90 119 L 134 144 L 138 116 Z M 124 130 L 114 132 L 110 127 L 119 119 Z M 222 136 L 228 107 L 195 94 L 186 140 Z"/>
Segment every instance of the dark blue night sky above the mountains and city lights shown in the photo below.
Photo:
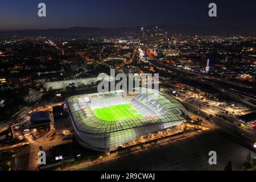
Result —
<path fill-rule="evenodd" d="M 39 18 L 38 3 L 47 6 Z M 217 3 L 217 18 L 208 5 Z M 0 0 L 0 30 L 133 27 L 156 24 L 195 26 L 256 25 L 255 0 Z"/>

